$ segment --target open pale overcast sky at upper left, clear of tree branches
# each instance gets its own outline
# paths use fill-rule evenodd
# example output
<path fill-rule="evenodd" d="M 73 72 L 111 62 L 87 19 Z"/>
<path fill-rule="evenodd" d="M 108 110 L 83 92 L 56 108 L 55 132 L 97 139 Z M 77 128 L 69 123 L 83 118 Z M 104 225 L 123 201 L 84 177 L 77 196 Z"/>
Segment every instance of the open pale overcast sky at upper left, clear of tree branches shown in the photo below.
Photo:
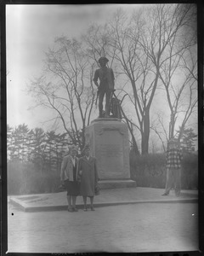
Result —
<path fill-rule="evenodd" d="M 24 90 L 40 75 L 44 52 L 54 45 L 54 38 L 77 38 L 92 23 L 108 20 L 117 7 L 133 10 L 131 4 L 6 6 L 8 125 L 42 126 L 46 113 L 28 111 L 33 102 Z"/>

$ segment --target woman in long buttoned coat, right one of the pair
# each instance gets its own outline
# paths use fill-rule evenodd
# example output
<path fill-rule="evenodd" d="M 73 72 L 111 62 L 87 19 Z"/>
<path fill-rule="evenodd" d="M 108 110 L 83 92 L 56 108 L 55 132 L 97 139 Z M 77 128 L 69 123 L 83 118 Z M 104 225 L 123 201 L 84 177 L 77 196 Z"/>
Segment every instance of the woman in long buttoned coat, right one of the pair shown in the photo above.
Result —
<path fill-rule="evenodd" d="M 94 195 L 95 188 L 98 185 L 98 172 L 96 159 L 90 156 L 90 148 L 88 145 L 82 150 L 82 158 L 79 159 L 78 173 L 81 180 L 80 195 L 83 197 L 84 211 L 87 211 L 87 197 L 90 198 L 91 210 L 94 211 Z"/>

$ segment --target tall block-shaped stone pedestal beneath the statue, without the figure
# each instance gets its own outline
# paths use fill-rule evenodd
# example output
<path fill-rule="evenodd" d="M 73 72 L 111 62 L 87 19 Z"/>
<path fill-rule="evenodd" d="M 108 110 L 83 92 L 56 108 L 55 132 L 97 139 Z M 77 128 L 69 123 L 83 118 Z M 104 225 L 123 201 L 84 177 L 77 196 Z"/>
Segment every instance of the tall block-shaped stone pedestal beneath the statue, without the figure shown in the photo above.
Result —
<path fill-rule="evenodd" d="M 133 187 L 129 171 L 127 125 L 116 118 L 94 119 L 85 131 L 91 155 L 97 159 L 102 189 Z"/>

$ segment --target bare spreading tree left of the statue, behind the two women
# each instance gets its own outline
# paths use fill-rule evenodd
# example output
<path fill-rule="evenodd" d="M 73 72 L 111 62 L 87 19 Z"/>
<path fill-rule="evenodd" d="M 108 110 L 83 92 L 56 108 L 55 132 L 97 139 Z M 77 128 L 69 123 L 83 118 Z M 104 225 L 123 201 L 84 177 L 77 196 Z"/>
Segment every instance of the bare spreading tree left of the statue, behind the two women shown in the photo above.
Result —
<path fill-rule="evenodd" d="M 71 142 L 82 149 L 94 108 L 92 67 L 77 40 L 57 38 L 54 46 L 46 54 L 44 74 L 31 82 L 29 93 L 37 106 L 55 113 L 54 120 L 61 122 Z"/>

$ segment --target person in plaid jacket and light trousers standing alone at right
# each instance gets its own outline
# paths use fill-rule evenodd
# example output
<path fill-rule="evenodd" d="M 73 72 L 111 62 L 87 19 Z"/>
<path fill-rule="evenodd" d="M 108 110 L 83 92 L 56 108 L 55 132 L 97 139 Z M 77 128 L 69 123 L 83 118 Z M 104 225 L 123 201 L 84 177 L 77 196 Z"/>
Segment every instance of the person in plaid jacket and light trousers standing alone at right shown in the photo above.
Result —
<path fill-rule="evenodd" d="M 178 148 L 178 141 L 176 139 L 171 139 L 167 145 L 167 182 L 166 188 L 163 195 L 169 195 L 170 190 L 175 189 L 175 195 L 180 195 L 180 176 L 181 176 L 181 160 L 182 160 L 181 150 Z"/>

